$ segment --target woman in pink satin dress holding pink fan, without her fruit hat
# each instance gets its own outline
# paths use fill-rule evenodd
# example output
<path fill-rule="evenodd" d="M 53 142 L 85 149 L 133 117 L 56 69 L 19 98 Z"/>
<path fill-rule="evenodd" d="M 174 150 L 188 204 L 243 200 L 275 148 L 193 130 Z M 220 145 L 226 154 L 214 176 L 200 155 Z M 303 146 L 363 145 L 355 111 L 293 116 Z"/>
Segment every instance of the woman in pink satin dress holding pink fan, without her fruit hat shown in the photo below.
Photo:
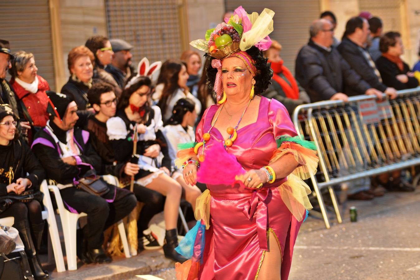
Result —
<path fill-rule="evenodd" d="M 178 152 L 185 181 L 208 190 L 177 248 L 191 258 L 176 264 L 177 278 L 287 279 L 311 208 L 302 179 L 316 171 L 315 145 L 297 136 L 280 102 L 258 95 L 273 75 L 259 48 L 210 60 L 218 105 L 205 111 L 197 142 Z"/>

